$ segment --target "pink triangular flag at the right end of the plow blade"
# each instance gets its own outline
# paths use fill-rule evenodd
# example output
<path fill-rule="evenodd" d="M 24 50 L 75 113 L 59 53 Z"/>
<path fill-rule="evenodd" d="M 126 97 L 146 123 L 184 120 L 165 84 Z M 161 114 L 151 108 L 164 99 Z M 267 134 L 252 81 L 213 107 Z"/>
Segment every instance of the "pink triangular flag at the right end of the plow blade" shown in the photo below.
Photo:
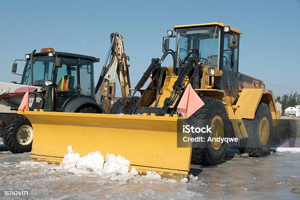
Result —
<path fill-rule="evenodd" d="M 177 110 L 184 116 L 185 119 L 191 117 L 197 110 L 204 105 L 204 102 L 197 95 L 195 90 L 189 83 L 183 93 L 181 100 L 177 106 Z"/>

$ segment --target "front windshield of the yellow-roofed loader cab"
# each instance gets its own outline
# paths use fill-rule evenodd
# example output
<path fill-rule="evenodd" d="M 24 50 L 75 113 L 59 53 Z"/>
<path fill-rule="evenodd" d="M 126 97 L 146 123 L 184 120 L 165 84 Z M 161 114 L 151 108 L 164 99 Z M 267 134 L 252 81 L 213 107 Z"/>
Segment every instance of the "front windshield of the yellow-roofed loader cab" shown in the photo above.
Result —
<path fill-rule="evenodd" d="M 220 38 L 221 29 L 218 26 L 177 29 L 176 52 L 182 60 L 189 50 L 196 48 L 204 65 L 219 68 Z"/>

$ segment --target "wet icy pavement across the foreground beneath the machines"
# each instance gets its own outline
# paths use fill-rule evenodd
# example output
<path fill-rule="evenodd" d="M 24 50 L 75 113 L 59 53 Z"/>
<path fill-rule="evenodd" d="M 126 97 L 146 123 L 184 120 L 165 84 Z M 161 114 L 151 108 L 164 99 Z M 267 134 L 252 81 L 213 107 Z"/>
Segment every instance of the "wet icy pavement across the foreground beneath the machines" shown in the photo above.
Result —
<path fill-rule="evenodd" d="M 92 156 L 101 160 L 97 153 Z M 228 150 L 219 166 L 192 165 L 191 173 L 199 180 L 194 177 L 187 183 L 161 179 L 155 173 L 148 177 L 134 172 L 128 175 L 116 166 L 107 168 L 117 170 L 113 174 L 87 165 L 61 169 L 64 166 L 27 162 L 28 157 L 29 153 L 0 151 L 0 189 L 31 189 L 31 199 L 43 200 L 300 199 L 291 193 L 292 188 L 300 187 L 300 153 L 276 152 L 265 158 L 250 158 Z M 88 162 L 87 157 L 81 158 L 85 159 L 81 164 Z M 114 156 L 112 160 L 112 164 L 125 161 Z"/>

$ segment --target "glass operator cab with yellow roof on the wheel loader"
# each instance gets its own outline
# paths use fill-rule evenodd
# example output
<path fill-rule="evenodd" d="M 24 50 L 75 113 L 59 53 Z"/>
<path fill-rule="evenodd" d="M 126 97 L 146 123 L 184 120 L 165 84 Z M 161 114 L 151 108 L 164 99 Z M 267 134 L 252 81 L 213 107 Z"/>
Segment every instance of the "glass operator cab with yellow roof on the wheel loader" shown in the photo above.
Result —
<path fill-rule="evenodd" d="M 216 67 L 223 71 L 222 76 L 216 77 L 214 89 L 237 93 L 240 30 L 223 23 L 207 23 L 176 25 L 174 31 L 174 36 L 168 35 L 176 38 L 175 51 L 179 61 L 190 50 L 197 49 L 203 67 Z M 179 71 L 179 63 L 176 64 L 175 73 Z"/>

